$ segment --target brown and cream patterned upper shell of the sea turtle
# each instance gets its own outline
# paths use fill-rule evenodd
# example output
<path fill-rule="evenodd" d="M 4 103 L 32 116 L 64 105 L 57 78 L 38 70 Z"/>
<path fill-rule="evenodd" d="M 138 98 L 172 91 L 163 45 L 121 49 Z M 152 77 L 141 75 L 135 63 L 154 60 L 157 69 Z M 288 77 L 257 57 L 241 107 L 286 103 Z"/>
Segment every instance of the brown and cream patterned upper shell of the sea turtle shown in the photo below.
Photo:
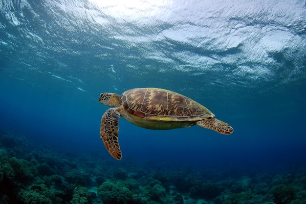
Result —
<path fill-rule="evenodd" d="M 164 89 L 131 89 L 121 95 L 121 102 L 128 114 L 147 119 L 200 120 L 214 116 L 196 101 Z"/>

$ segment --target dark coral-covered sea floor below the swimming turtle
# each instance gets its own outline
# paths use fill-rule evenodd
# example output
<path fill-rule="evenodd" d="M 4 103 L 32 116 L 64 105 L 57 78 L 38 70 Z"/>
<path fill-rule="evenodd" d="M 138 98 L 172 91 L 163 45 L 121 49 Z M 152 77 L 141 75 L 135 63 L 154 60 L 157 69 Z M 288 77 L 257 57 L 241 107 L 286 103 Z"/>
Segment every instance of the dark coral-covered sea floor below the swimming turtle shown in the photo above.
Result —
<path fill-rule="evenodd" d="M 102 152 L 38 146 L 2 130 L 0 203 L 306 204 L 305 166 L 198 168 L 101 159 Z"/>

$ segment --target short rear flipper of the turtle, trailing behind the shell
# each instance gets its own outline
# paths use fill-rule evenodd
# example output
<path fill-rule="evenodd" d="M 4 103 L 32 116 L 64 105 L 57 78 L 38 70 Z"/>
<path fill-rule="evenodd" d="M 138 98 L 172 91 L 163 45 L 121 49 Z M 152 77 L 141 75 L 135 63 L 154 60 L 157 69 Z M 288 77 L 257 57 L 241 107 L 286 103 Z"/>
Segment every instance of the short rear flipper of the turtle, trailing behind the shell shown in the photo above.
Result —
<path fill-rule="evenodd" d="M 197 121 L 197 125 L 201 126 L 202 128 L 215 130 L 221 134 L 232 134 L 234 131 L 234 129 L 229 124 L 220 121 L 214 117 Z"/>

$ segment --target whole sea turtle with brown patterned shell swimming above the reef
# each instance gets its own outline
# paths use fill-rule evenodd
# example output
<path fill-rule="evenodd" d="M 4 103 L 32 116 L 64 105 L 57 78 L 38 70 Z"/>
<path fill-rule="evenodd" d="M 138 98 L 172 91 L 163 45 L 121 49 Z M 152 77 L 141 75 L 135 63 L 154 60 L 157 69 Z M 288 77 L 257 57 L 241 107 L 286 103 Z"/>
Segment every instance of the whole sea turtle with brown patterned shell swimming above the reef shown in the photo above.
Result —
<path fill-rule="evenodd" d="M 118 143 L 119 116 L 142 128 L 169 130 L 194 125 L 231 134 L 233 128 L 196 101 L 165 89 L 136 88 L 121 95 L 101 93 L 99 102 L 115 107 L 102 116 L 100 137 L 110 155 L 121 160 Z"/>

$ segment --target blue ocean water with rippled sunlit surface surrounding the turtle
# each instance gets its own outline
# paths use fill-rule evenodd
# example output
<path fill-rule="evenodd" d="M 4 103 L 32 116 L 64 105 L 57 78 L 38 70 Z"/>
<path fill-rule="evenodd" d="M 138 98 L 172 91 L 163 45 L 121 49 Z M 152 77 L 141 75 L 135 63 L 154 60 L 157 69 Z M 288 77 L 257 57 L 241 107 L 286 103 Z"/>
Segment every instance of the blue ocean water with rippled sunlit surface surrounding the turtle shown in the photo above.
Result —
<path fill-rule="evenodd" d="M 1 0 L 0 14 L 5 134 L 109 161 L 109 171 L 305 169 L 305 1 Z M 146 130 L 121 117 L 116 161 L 99 137 L 109 107 L 98 97 L 137 87 L 186 95 L 234 133 Z"/>

